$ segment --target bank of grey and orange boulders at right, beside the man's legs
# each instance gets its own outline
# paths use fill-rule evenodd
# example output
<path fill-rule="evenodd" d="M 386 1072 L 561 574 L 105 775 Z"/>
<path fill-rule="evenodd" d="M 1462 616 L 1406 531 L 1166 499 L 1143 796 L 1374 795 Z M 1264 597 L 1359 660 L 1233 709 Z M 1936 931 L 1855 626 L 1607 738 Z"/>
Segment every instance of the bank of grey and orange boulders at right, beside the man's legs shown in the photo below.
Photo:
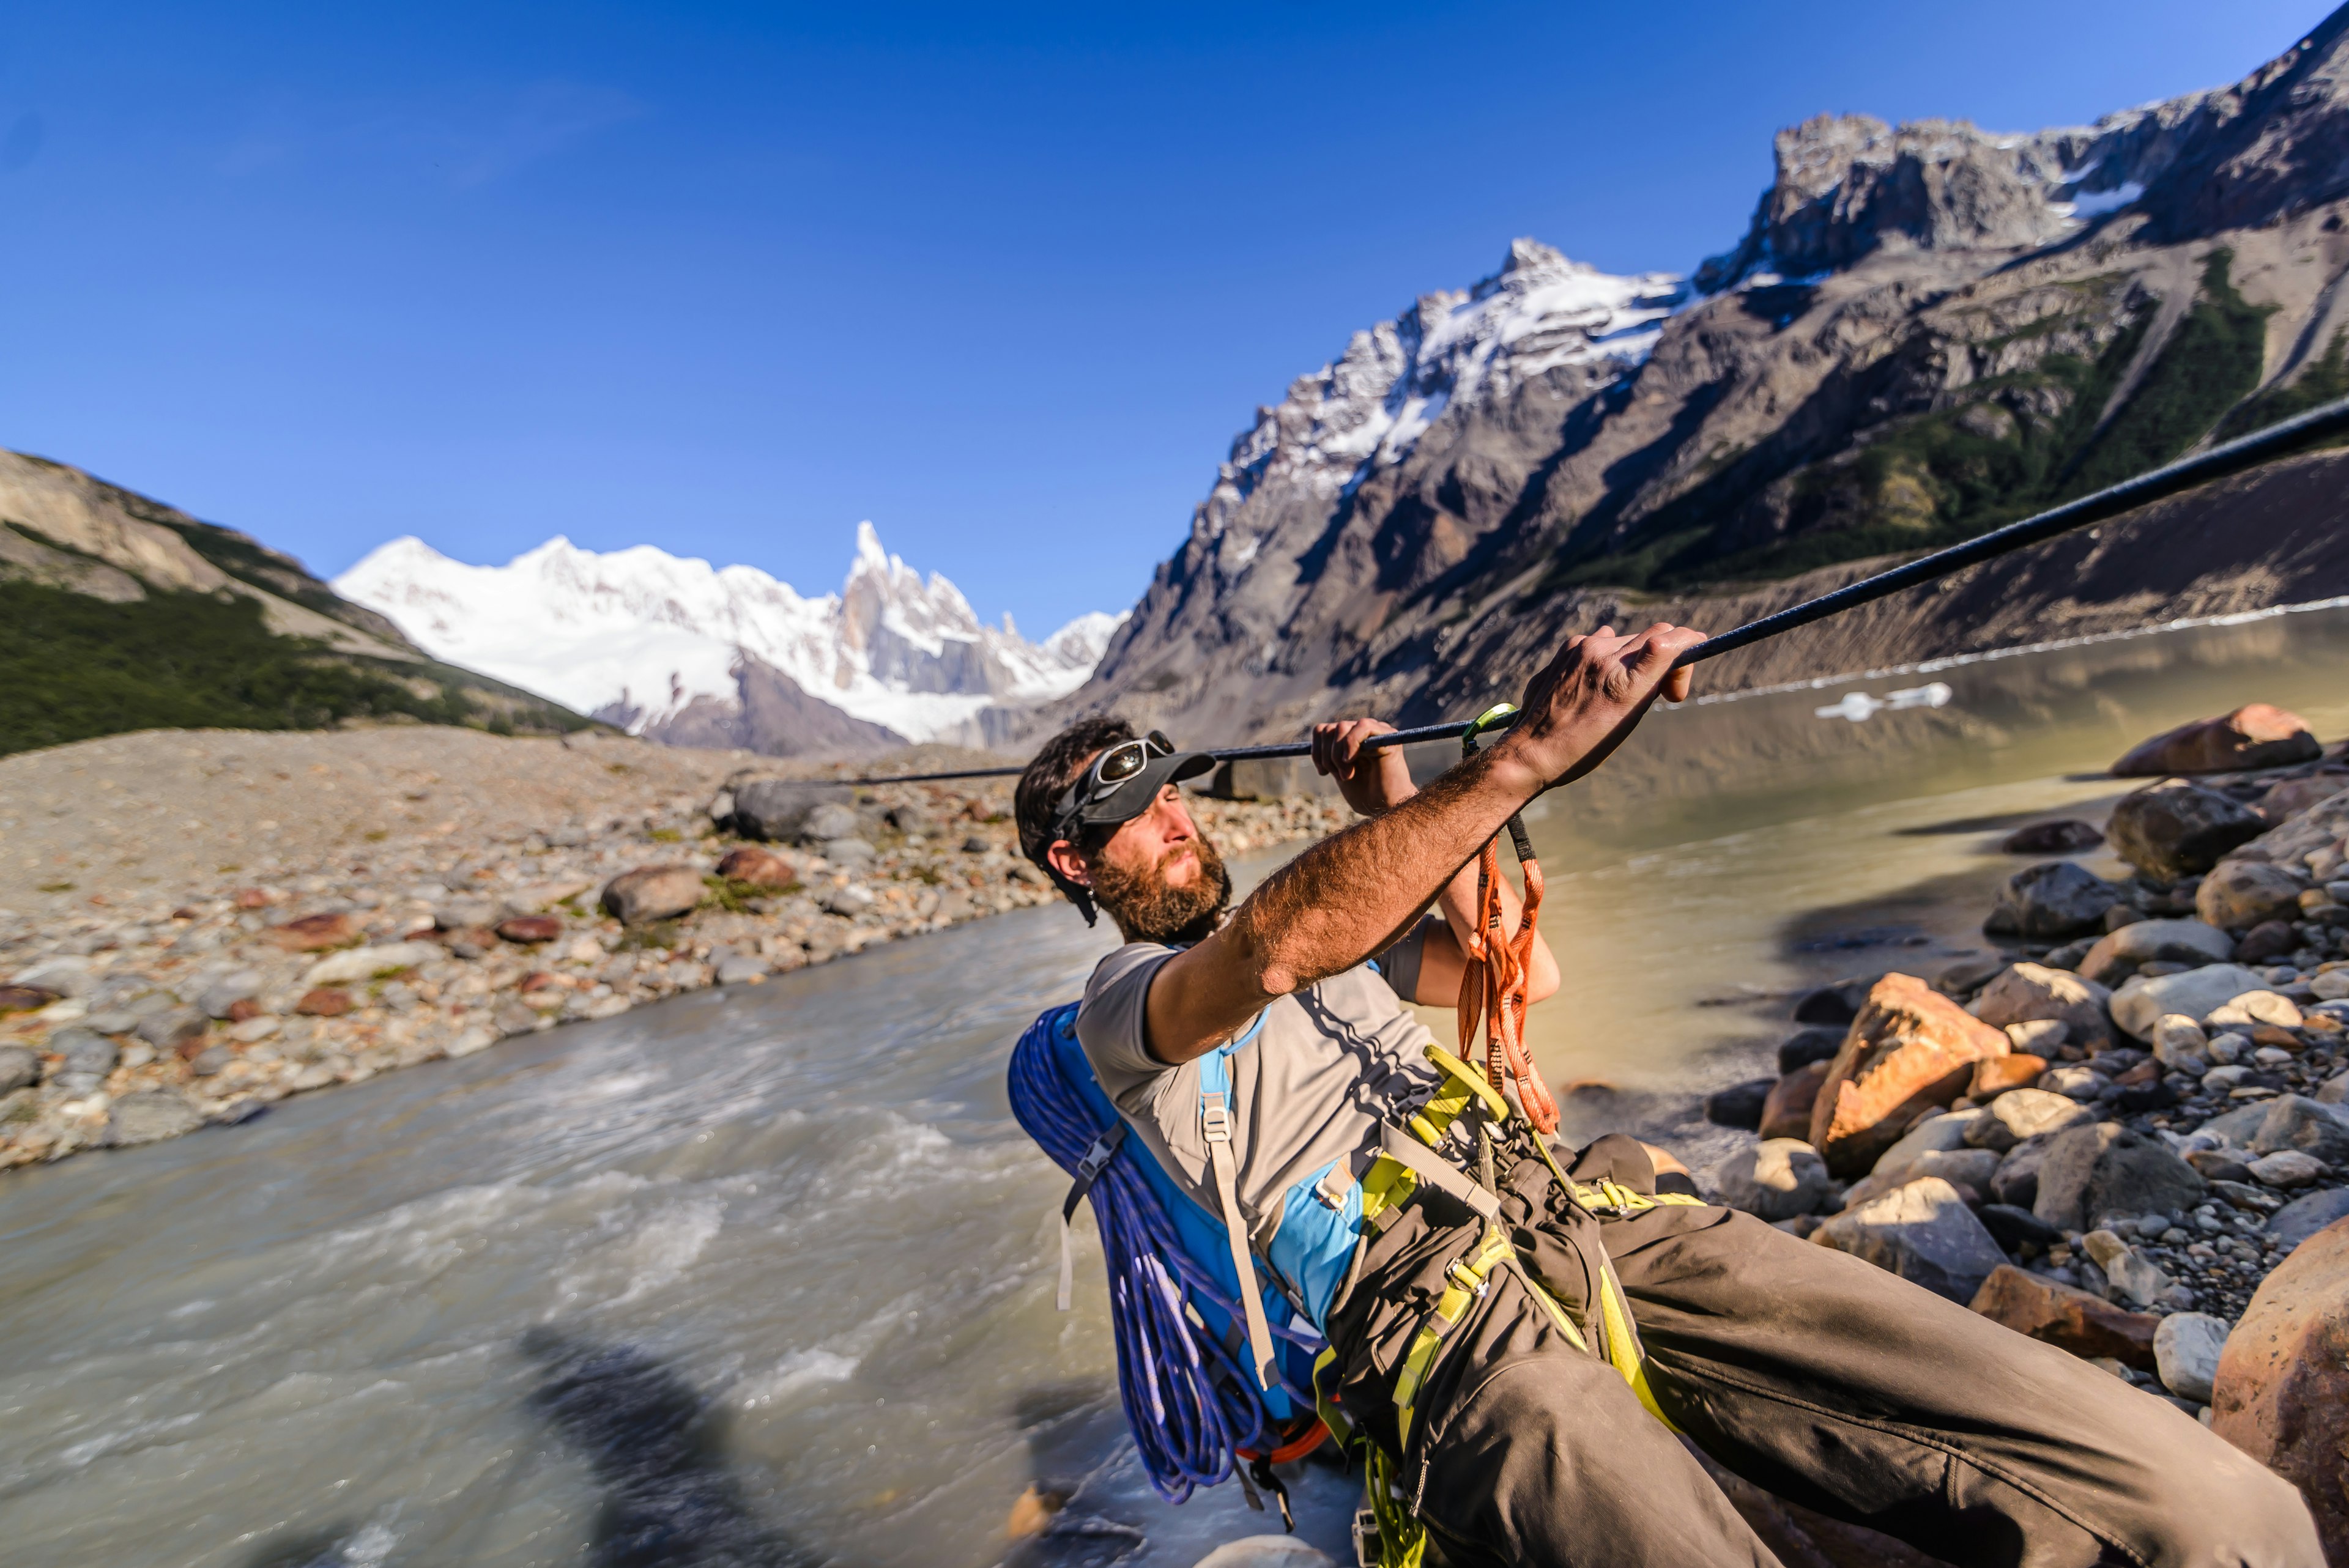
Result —
<path fill-rule="evenodd" d="M 2154 782 L 2006 847 L 2131 876 L 2037 859 L 1994 953 L 1799 998 L 1712 1185 L 2201 1418 L 2349 1549 L 2349 746 L 2250 707 L 2114 772 Z"/>

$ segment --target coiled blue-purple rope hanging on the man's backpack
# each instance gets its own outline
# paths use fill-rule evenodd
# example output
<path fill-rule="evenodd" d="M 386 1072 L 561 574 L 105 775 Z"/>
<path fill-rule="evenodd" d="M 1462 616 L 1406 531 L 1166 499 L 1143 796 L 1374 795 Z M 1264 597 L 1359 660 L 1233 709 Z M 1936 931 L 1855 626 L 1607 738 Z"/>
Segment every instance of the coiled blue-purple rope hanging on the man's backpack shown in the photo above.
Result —
<path fill-rule="evenodd" d="M 1036 1019 L 1010 1061 L 1010 1101 L 1019 1127 L 1052 1162 L 1076 1174 L 1085 1150 L 1111 1122 L 1076 1084 L 1052 1045 L 1066 1035 L 1076 1005 Z M 1109 1265 L 1109 1317 L 1118 1345 L 1118 1399 L 1142 1451 L 1151 1486 L 1167 1502 L 1231 1476 L 1233 1448 L 1268 1448 L 1264 1399 L 1240 1361 L 1184 1310 L 1184 1291 L 1236 1322 L 1229 1298 L 1182 1242 L 1158 1192 L 1135 1164 L 1151 1155 L 1128 1138 L 1092 1183 L 1092 1216 Z M 1320 1336 L 1276 1326 L 1276 1336 L 1320 1350 Z M 1290 1390 L 1313 1408 L 1306 1390 Z"/>

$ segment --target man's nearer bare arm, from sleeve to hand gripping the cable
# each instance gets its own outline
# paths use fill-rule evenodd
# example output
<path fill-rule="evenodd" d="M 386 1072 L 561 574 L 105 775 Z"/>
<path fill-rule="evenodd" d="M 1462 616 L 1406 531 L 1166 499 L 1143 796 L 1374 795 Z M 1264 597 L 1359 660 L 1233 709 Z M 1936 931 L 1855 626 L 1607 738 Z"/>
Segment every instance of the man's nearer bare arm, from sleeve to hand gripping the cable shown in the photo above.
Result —
<path fill-rule="evenodd" d="M 1149 1049 L 1191 1061 L 1268 1002 L 1341 974 L 1393 941 L 1527 800 L 1597 768 L 1658 695 L 1687 695 L 1670 662 L 1701 641 L 1654 624 L 1567 638 L 1525 692 L 1525 716 L 1489 751 L 1393 810 L 1325 838 L 1276 871 L 1212 937 L 1151 981 Z M 1470 880 L 1470 894 L 1473 894 Z M 1456 974 L 1454 974 L 1456 981 Z"/>

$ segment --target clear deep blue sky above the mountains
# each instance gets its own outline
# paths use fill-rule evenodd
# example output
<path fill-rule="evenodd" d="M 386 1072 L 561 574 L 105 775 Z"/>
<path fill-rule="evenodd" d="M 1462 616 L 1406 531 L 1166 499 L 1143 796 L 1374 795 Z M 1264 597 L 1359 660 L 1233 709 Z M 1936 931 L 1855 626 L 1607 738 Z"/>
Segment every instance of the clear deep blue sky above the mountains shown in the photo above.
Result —
<path fill-rule="evenodd" d="M 1534 235 L 1743 230 L 1820 110 L 2084 122 L 2323 5 L 19 5 L 0 446 L 336 573 L 552 533 L 1041 634 L 1252 408 Z"/>

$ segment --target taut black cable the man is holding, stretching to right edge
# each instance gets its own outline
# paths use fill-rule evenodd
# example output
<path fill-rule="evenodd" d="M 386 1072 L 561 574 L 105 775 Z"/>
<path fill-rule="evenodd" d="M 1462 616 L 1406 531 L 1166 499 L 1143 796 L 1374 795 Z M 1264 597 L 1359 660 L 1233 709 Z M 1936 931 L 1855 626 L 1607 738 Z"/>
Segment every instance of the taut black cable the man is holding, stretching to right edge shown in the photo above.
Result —
<path fill-rule="evenodd" d="M 1818 599 L 1804 599 L 1797 606 L 1788 606 L 1762 620 L 1750 620 L 1743 627 L 1722 631 L 1719 636 L 1708 636 L 1696 648 L 1672 660 L 1672 669 L 1687 669 L 1689 664 L 1703 664 L 1705 660 L 1717 660 L 1724 653 L 1736 653 L 1750 643 L 1778 636 L 1781 631 L 1792 631 L 1795 627 L 1809 627 L 1813 620 L 1825 620 L 1830 615 L 1842 615 L 1844 610 L 1872 603 L 1889 594 L 1947 577 L 1950 573 L 1961 573 L 1968 566 L 1980 566 L 1983 561 L 1994 561 L 2004 554 L 2018 549 L 2030 549 L 2032 545 L 2044 545 L 2046 540 L 2060 538 L 2065 533 L 2079 533 L 2093 523 L 2121 516 L 2123 512 L 2135 512 L 2138 507 L 2152 505 L 2180 491 L 2192 491 L 2199 484 L 2210 484 L 2213 479 L 2225 479 L 2229 474 L 2241 474 L 2248 467 L 2257 467 L 2271 458 L 2286 458 L 2311 441 L 2323 441 L 2328 437 L 2340 437 L 2349 432 L 2349 397 L 2326 404 L 2321 408 L 2309 408 L 2302 415 L 2279 420 L 2267 430 L 2239 437 L 2222 446 L 2213 446 L 2206 453 L 2194 453 L 2168 462 L 2163 467 L 2138 474 L 2135 479 L 2123 479 L 2121 484 L 2095 491 L 2093 495 L 2081 495 L 2079 500 L 2067 500 L 2060 507 L 2048 507 L 2034 516 L 2025 516 L 2020 523 L 2006 523 L 2004 528 L 1992 528 L 1990 533 L 1976 535 L 1964 545 L 1952 545 L 1950 549 L 1936 549 L 1929 556 L 1917 556 L 1905 566 L 1882 570 L 1875 577 L 1860 577 L 1858 582 L 1846 582 L 1832 594 L 1820 594 Z M 1386 746 L 1412 746 L 1428 739 L 1459 739 L 1470 730 L 1475 721 L 1468 723 L 1433 723 L 1416 730 L 1388 730 L 1386 735 L 1372 735 L 1362 742 L 1365 751 L 1384 751 Z M 1494 725 L 1501 728 L 1501 725 Z M 1313 742 L 1290 739 L 1273 742 L 1268 746 L 1212 746 L 1210 753 L 1219 763 L 1240 763 L 1276 756 L 1313 756 Z M 954 772 L 897 772 L 881 779 L 836 779 L 839 784 L 933 784 L 944 779 L 1008 779 L 1019 772 L 1019 768 L 961 768 Z"/>

